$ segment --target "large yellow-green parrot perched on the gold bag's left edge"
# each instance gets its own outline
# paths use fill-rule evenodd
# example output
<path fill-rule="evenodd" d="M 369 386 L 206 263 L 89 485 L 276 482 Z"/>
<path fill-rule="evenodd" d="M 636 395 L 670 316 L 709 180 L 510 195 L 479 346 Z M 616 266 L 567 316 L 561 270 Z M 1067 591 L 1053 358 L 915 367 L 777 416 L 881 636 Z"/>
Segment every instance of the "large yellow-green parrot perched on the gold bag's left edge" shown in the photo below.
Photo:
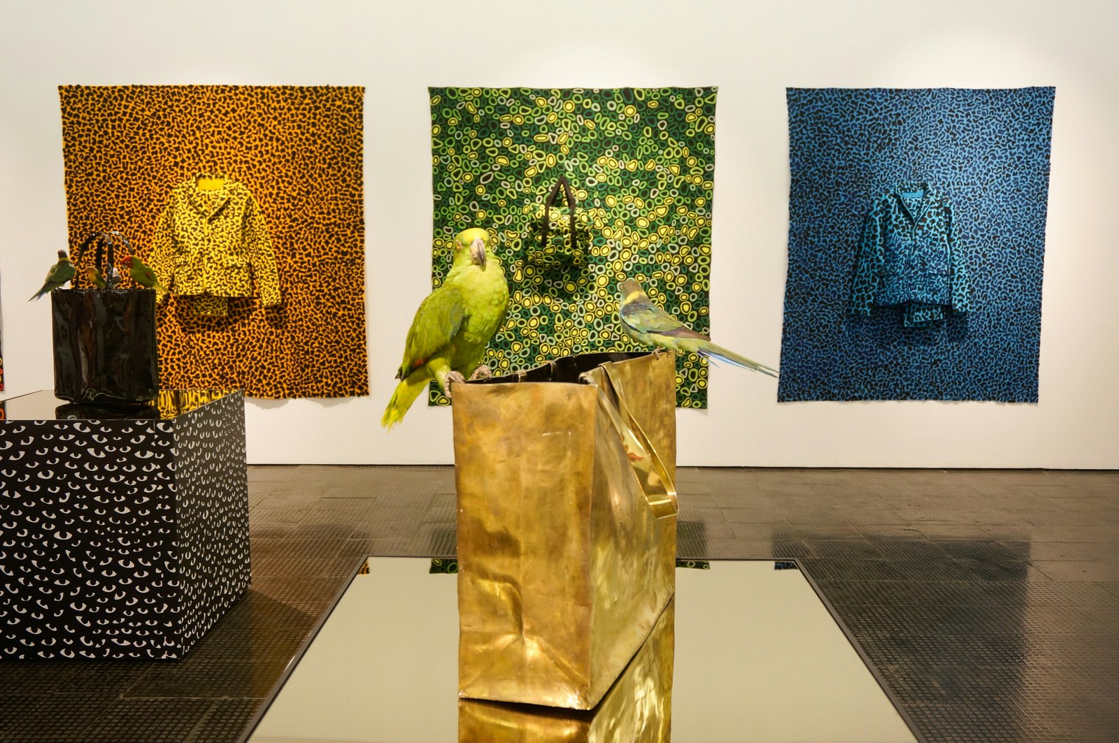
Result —
<path fill-rule="evenodd" d="M 455 235 L 451 272 L 420 303 L 412 320 L 404 361 L 396 372 L 401 383 L 380 418 L 386 429 L 404 418 L 431 379 L 450 397 L 453 383 L 489 375 L 479 364 L 486 345 L 505 325 L 509 284 L 488 242 L 489 234 L 480 227 Z"/>

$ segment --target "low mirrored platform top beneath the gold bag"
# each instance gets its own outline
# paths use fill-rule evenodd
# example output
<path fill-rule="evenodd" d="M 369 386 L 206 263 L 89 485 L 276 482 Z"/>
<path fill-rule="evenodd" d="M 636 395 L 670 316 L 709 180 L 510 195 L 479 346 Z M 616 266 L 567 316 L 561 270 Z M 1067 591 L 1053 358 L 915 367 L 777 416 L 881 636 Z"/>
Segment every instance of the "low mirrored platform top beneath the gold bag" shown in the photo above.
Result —
<path fill-rule="evenodd" d="M 633 704 L 613 706 L 670 709 L 658 714 L 670 714 L 678 743 L 916 740 L 811 584 L 789 570 L 793 563 L 677 568 L 675 627 L 653 630 L 626 683 L 590 713 L 460 702 L 457 576 L 430 573 L 424 558 L 370 557 L 367 565 L 251 743 L 611 740 L 591 732 L 601 722 L 595 713 L 614 714 L 605 708 L 611 695 L 634 688 Z M 661 657 L 649 662 L 649 652 Z M 670 669 L 670 680 L 658 667 Z M 555 724 L 563 717 L 571 725 Z M 491 721 L 491 734 L 478 732 L 480 720 Z M 570 736 L 572 726 L 583 737 Z"/>

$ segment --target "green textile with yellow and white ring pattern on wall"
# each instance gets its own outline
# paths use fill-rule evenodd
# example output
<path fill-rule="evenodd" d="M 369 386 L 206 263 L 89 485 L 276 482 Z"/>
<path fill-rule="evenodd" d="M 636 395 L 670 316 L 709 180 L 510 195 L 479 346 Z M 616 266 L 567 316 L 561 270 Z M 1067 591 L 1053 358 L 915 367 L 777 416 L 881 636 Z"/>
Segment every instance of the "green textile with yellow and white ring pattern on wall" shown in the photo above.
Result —
<path fill-rule="evenodd" d="M 509 280 L 509 320 L 490 344 L 493 374 L 548 358 L 637 350 L 618 326 L 617 284 L 637 279 L 653 301 L 708 332 L 714 87 L 530 90 L 433 87 L 435 199 L 432 284 L 451 241 L 485 227 Z M 589 250 L 542 260 L 534 216 L 560 176 L 574 187 Z M 553 224 L 567 224 L 561 198 Z M 567 229 L 549 254 L 570 255 Z M 446 404 L 433 385 L 431 402 Z M 677 359 L 677 404 L 707 406 L 707 366 Z"/>

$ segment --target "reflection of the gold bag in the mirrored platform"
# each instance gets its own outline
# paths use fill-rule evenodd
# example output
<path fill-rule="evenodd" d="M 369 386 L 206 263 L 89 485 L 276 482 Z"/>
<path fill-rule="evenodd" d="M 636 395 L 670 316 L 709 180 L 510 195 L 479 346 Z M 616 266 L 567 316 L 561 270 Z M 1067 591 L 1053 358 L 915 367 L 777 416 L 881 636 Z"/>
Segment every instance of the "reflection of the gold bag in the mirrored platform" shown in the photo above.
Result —
<path fill-rule="evenodd" d="M 459 699 L 459 743 L 667 743 L 673 722 L 675 602 L 593 711 Z"/>

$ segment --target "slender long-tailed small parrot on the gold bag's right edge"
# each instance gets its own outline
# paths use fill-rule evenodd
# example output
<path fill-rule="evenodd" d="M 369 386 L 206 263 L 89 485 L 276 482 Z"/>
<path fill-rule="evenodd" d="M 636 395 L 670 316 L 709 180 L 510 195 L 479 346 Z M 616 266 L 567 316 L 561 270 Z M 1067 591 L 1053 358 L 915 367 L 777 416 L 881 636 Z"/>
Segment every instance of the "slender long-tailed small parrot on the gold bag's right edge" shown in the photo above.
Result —
<path fill-rule="evenodd" d="M 725 361 L 743 369 L 777 376 L 777 369 L 716 346 L 711 342 L 711 336 L 696 332 L 665 312 L 652 303 L 648 294 L 641 291 L 641 285 L 632 279 L 622 281 L 618 289 L 621 292 L 618 317 L 622 322 L 622 330 L 634 340 L 646 346 L 660 346 L 678 354 L 698 354 L 713 361 Z"/>

